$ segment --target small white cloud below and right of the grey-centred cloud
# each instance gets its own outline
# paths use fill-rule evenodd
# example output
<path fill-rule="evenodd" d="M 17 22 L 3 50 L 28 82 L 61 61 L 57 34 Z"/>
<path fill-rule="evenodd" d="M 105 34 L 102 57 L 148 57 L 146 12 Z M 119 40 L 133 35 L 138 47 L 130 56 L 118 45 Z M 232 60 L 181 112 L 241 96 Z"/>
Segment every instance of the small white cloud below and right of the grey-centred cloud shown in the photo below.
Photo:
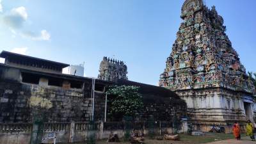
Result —
<path fill-rule="evenodd" d="M 23 31 L 21 35 L 26 38 L 31 38 L 32 40 L 50 40 L 51 39 L 51 34 L 46 30 L 42 30 L 40 33 L 35 33 L 33 31 Z"/>

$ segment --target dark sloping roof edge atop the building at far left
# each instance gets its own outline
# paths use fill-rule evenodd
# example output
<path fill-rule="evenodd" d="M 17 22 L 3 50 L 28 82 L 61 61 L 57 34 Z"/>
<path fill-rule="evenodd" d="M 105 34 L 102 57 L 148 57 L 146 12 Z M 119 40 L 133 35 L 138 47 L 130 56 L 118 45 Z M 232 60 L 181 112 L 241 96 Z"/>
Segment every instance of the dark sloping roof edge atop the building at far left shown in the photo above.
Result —
<path fill-rule="evenodd" d="M 41 58 L 35 58 L 32 56 L 26 56 L 23 54 L 17 54 L 17 53 L 13 53 L 13 52 L 8 52 L 8 51 L 2 51 L 0 53 L 0 58 L 5 58 L 5 59 L 15 59 L 15 60 L 26 60 L 26 61 L 36 61 L 38 63 L 45 63 L 47 65 L 54 65 L 54 66 L 58 66 L 60 68 L 65 68 L 68 67 L 69 65 L 66 63 L 59 63 L 56 61 L 50 61 L 50 60 L 44 60 Z"/>

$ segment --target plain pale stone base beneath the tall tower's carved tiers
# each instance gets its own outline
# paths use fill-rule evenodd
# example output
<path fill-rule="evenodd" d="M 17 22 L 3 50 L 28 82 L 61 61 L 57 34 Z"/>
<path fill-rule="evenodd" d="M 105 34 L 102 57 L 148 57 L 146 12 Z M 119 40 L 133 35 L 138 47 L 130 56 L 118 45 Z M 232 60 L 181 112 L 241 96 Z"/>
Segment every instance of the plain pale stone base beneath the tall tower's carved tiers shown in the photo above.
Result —
<path fill-rule="evenodd" d="M 253 122 L 253 104 L 243 100 L 246 93 L 224 88 L 183 90 L 176 93 L 186 100 L 189 122 L 195 131 L 210 131 L 216 125 L 225 127 L 229 133 L 232 132 L 234 122 L 239 122 L 244 131 L 246 121 Z"/>

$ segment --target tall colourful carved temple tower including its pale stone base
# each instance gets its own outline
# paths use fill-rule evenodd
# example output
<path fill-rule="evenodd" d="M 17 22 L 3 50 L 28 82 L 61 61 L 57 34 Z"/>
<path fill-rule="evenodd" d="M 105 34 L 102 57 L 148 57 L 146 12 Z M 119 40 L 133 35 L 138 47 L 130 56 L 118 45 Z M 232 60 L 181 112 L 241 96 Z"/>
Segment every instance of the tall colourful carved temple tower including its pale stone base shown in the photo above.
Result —
<path fill-rule="evenodd" d="M 159 85 L 186 100 L 200 130 L 253 120 L 255 87 L 225 34 L 223 18 L 202 0 L 186 0 L 181 18 Z"/>

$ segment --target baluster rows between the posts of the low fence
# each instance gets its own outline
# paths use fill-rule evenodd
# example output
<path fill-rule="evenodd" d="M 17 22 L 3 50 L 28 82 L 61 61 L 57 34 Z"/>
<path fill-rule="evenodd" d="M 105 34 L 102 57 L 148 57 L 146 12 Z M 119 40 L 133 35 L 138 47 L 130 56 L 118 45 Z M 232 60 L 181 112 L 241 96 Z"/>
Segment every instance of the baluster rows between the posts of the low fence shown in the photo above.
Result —
<path fill-rule="evenodd" d="M 97 127 L 100 127 L 101 122 L 95 122 Z M 160 125 L 161 124 L 161 125 Z M 179 127 L 180 127 L 180 122 Z M 71 123 L 44 123 L 44 132 L 59 132 L 59 131 L 70 131 Z M 86 131 L 88 130 L 89 122 L 75 122 L 74 131 Z M 123 130 L 125 127 L 125 122 L 104 122 L 103 130 L 104 131 L 115 131 Z M 173 122 L 159 122 L 157 121 L 154 124 L 155 128 L 161 129 L 166 127 L 175 127 Z M 0 124 L 0 132 L 9 133 L 9 132 L 31 132 L 33 124 L 30 123 L 4 123 Z M 132 122 L 132 129 L 147 129 L 148 123 L 146 121 L 135 121 Z"/>

